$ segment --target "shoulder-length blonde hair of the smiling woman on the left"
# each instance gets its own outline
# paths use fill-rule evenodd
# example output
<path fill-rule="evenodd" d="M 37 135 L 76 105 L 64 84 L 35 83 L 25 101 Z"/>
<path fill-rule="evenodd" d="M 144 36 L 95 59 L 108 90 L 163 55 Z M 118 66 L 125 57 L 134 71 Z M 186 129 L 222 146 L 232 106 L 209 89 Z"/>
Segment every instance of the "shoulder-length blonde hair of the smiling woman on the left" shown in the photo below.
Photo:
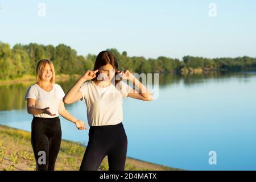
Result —
<path fill-rule="evenodd" d="M 38 62 L 38 65 L 36 66 L 36 83 L 37 84 L 40 84 L 41 82 L 40 73 L 46 67 L 46 64 L 49 64 L 49 66 L 51 67 L 51 71 L 52 71 L 51 83 L 53 84 L 55 82 L 55 71 L 54 71 L 52 61 L 48 59 L 42 59 Z"/>

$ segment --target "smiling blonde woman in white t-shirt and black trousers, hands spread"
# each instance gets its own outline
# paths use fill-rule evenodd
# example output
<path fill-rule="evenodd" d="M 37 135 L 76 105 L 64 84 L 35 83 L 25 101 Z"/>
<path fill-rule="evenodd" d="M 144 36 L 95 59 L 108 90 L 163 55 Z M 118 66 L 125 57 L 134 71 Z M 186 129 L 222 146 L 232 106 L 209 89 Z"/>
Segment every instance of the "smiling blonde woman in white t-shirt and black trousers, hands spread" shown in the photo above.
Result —
<path fill-rule="evenodd" d="M 36 67 L 36 84 L 28 88 L 27 112 L 34 118 L 31 123 L 31 144 L 38 171 L 53 171 L 61 142 L 59 114 L 75 123 L 77 129 L 86 129 L 85 123 L 73 117 L 64 106 L 65 93 L 55 84 L 51 61 L 40 60 Z"/>

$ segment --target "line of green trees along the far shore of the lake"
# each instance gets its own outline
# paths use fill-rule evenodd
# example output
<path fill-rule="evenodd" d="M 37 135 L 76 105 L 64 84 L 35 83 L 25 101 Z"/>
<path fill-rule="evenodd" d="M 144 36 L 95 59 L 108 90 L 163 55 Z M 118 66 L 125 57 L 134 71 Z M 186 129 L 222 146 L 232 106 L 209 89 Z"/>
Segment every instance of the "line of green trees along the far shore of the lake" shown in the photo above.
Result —
<path fill-rule="evenodd" d="M 183 69 L 219 69 L 221 71 L 245 71 L 256 69 L 256 58 L 223 57 L 208 59 L 204 57 L 184 56 L 182 60 L 160 56 L 157 59 L 146 59 L 143 56 L 127 56 L 127 52 L 117 49 L 107 49 L 118 59 L 119 69 L 129 69 L 135 73 L 180 72 Z M 13 48 L 7 43 L 0 42 L 0 79 L 12 79 L 23 75 L 35 75 L 36 64 L 41 59 L 53 62 L 57 74 L 82 74 L 93 69 L 97 55 L 77 55 L 75 49 L 65 44 L 44 46 L 30 43 L 15 44 Z"/>

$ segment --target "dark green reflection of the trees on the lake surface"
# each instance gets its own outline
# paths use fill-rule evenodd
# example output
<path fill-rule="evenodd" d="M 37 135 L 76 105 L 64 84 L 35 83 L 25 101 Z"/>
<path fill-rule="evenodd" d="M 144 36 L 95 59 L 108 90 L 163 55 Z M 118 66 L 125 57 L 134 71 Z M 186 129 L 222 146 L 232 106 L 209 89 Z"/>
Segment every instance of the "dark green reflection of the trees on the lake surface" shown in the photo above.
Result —
<path fill-rule="evenodd" d="M 171 84 L 180 84 L 183 82 L 185 86 L 192 86 L 195 84 L 204 84 L 210 80 L 216 82 L 222 82 L 229 78 L 238 79 L 241 82 L 249 81 L 251 76 L 256 75 L 256 72 L 210 72 L 207 74 L 160 74 L 159 75 L 159 88 L 165 88 Z M 75 84 L 76 80 L 68 80 L 65 82 L 57 82 L 63 88 L 66 93 L 68 89 Z M 24 95 L 26 94 L 28 86 L 34 84 L 33 82 L 15 83 L 0 85 L 0 110 L 19 110 L 26 109 L 27 102 L 24 100 Z M 154 84 L 154 79 L 152 80 Z M 67 106 L 67 107 L 70 107 Z"/>

